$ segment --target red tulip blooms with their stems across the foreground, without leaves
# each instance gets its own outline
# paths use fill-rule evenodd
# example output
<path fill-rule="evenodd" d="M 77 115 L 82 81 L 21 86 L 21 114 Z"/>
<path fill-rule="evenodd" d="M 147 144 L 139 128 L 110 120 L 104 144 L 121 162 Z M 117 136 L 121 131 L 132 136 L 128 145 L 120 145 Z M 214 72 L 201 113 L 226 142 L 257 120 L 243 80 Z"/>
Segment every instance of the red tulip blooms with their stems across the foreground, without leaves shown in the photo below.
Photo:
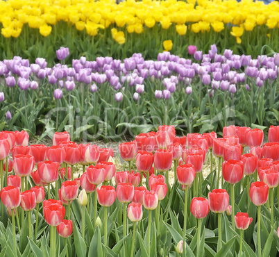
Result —
<path fill-rule="evenodd" d="M 94 224 L 96 224 L 97 217 L 97 201 L 105 207 L 106 212 L 107 208 L 112 206 L 117 198 L 120 203 L 124 204 L 124 235 L 127 232 L 126 215 L 128 214 L 131 222 L 139 221 L 142 219 L 143 205 L 144 208 L 149 210 L 148 235 L 150 237 L 151 210 L 155 210 L 155 224 L 159 228 L 160 201 L 167 196 L 168 190 L 171 190 L 168 172 L 172 162 L 174 161 L 175 183 L 177 180 L 185 190 L 185 213 L 187 214 L 187 191 L 189 186 L 193 185 L 195 196 L 196 194 L 203 194 L 201 190 L 203 163 L 205 163 L 205 154 L 210 149 L 211 163 L 212 154 L 219 158 L 217 188 L 220 186 L 220 178 L 229 183 L 232 188 L 233 228 L 236 226 L 237 229 L 247 229 L 252 221 L 246 213 L 237 213 L 236 216 L 234 213 L 234 185 L 242 180 L 244 174 L 248 179 L 252 174 L 255 174 L 255 182 L 251 184 L 251 188 L 248 180 L 248 190 L 251 201 L 256 206 L 261 206 L 267 202 L 269 188 L 271 188 L 271 223 L 273 224 L 273 188 L 278 188 L 279 184 L 279 126 L 269 128 L 269 143 L 261 147 L 263 136 L 263 131 L 257 128 L 252 130 L 246 127 L 229 126 L 223 128 L 223 138 L 217 138 L 217 134 L 214 132 L 204 133 L 203 135 L 198 133 L 187 134 L 187 136 L 178 138 L 174 126 L 160 126 L 157 133 L 140 134 L 136 136 L 133 142 L 119 144 L 121 158 L 128 161 L 129 171 L 116 172 L 114 163 L 109 161 L 112 160 L 110 157 L 113 157 L 112 149 L 100 149 L 96 145 L 70 142 L 69 134 L 66 132 L 55 133 L 52 147 L 47 147 L 44 144 L 34 144 L 28 147 L 28 133 L 25 131 L 3 131 L 0 133 L 0 197 L 8 213 L 12 215 L 14 226 L 15 215 L 17 216 L 16 208 L 20 205 L 22 210 L 30 215 L 30 211 L 44 200 L 44 186 L 47 185 L 49 200 L 43 202 L 44 218 L 47 224 L 54 228 L 57 227 L 58 233 L 62 237 L 67 237 L 71 235 L 73 228 L 70 220 L 70 204 L 78 197 L 78 190 L 81 185 L 81 188 L 83 188 L 79 197 L 81 206 L 87 205 L 85 193 L 95 192 Z M 243 154 L 242 149 L 246 146 L 251 148 L 251 154 Z M 13 163 L 8 160 L 10 151 Z M 222 158 L 224 160 L 222 165 L 223 176 L 220 176 Z M 131 170 L 131 161 L 134 159 L 140 173 Z M 8 169 L 6 168 L 7 162 Z M 76 164 L 83 165 L 84 169 L 81 177 L 74 180 L 73 168 Z M 178 164 L 180 165 L 178 166 Z M 33 171 L 35 165 L 37 165 L 37 170 Z M 71 165 L 71 168 L 68 165 Z M 85 172 L 86 165 L 89 166 Z M 8 172 L 12 172 L 12 169 L 16 176 L 8 176 Z M 4 179 L 3 170 L 6 171 L 6 179 Z M 255 172 L 256 170 L 257 172 Z M 160 174 L 156 176 L 156 172 L 164 172 L 166 178 Z M 58 188 L 59 174 L 62 179 L 66 180 L 62 182 L 61 188 Z M 257 181 L 257 174 L 260 181 Z M 36 184 L 30 190 L 28 190 L 26 180 L 29 175 Z M 141 186 L 143 175 L 147 177 L 146 187 Z M 117 184 L 116 190 L 112 186 L 113 177 Z M 71 179 L 71 181 L 68 181 L 68 179 Z M 50 199 L 50 183 L 53 182 L 56 183 L 56 200 Z M 197 193 L 198 183 L 200 186 L 199 193 Z M 7 186 L 4 187 L 4 184 Z M 103 184 L 101 188 L 97 188 L 101 184 Z M 20 192 L 20 188 L 22 192 Z M 129 204 L 128 213 L 126 213 L 126 204 L 130 202 L 132 203 Z M 228 204 L 228 192 L 224 189 L 214 189 L 208 194 L 208 199 L 194 197 L 191 212 L 197 219 L 202 219 L 208 215 L 209 210 L 212 210 L 213 213 L 224 213 Z M 64 219 L 65 205 L 68 206 L 68 219 Z M 1 208 L 1 212 L 1 217 L 3 217 L 3 208 Z M 22 217 L 24 217 L 23 213 Z M 187 215 L 184 218 L 183 231 L 185 233 Z M 219 219 L 221 219 L 220 215 Z M 106 222 L 105 220 L 105 224 Z M 19 223 L 18 220 L 17 223 Z M 200 229 L 198 228 L 199 233 Z M 258 231 L 260 233 L 260 229 Z M 106 232 L 107 229 L 105 229 Z M 36 233 L 37 230 L 35 230 L 35 235 Z M 54 251 L 54 232 L 51 235 L 53 235 L 51 250 Z M 217 250 L 220 247 L 221 231 L 219 230 Z"/>

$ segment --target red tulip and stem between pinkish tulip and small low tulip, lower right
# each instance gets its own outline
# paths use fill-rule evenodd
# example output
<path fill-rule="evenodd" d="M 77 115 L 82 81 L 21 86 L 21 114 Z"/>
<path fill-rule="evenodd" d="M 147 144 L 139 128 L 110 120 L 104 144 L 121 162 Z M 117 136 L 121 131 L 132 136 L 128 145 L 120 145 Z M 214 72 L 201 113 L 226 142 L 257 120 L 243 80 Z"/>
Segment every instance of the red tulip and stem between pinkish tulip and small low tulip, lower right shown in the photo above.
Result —
<path fill-rule="evenodd" d="M 221 213 L 226 211 L 230 198 L 225 189 L 214 189 L 208 194 L 210 210 L 213 213 L 218 213 L 218 244 L 217 251 L 221 248 Z"/>

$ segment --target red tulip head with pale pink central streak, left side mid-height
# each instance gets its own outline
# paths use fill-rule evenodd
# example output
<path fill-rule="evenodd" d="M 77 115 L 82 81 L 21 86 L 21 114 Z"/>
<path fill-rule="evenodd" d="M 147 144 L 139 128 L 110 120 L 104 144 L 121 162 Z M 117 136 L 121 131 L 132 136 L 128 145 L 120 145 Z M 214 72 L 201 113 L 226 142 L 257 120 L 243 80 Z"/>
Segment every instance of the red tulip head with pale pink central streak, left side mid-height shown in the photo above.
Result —
<path fill-rule="evenodd" d="M 44 183 L 52 183 L 58 179 L 59 163 L 53 163 L 50 160 L 37 164 L 39 178 Z"/>

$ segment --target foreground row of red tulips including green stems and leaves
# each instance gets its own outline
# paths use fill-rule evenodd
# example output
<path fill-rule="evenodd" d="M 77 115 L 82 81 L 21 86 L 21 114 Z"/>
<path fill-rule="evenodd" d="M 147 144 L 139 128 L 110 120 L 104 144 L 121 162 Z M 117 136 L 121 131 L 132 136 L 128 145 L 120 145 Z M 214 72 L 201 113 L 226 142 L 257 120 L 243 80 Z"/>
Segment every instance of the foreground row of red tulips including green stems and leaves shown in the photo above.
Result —
<path fill-rule="evenodd" d="M 128 253 L 130 256 L 155 256 L 174 254 L 174 250 L 191 256 L 214 256 L 223 253 L 223 249 L 228 254 L 236 251 L 240 256 L 255 256 L 256 252 L 261 256 L 263 245 L 264 254 L 275 256 L 278 238 L 273 231 L 279 222 L 278 135 L 279 126 L 271 126 L 269 142 L 262 147 L 264 133 L 257 128 L 228 126 L 223 128 L 223 138 L 217 138 L 213 131 L 203 135 L 188 133 L 179 138 L 174 126 L 159 126 L 157 133 L 140 134 L 133 142 L 119 144 L 120 156 L 129 167 L 129 171 L 119 172 L 113 163 L 112 149 L 77 145 L 69 141 L 67 132 L 56 133 L 52 147 L 42 144 L 28 147 L 25 131 L 3 131 L 0 134 L 1 219 L 8 224 L 3 209 L 6 206 L 12 216 L 10 251 L 20 256 L 26 250 L 22 244 L 18 249 L 18 231 L 21 238 L 29 236 L 26 244 L 30 253 L 41 254 L 45 245 L 50 244 L 51 256 L 61 251 L 71 256 L 94 252 L 98 252 L 98 256 L 126 256 Z M 251 154 L 243 154 L 245 147 Z M 13 163 L 8 159 L 10 151 Z M 219 158 L 219 167 L 215 170 L 212 169 L 213 155 Z M 206 161 L 211 170 L 205 179 Z M 172 164 L 175 179 L 171 187 L 169 170 Z M 35 165 L 37 170 L 34 171 Z M 83 167 L 83 172 L 74 179 L 77 165 Z M 15 172 L 15 176 L 8 176 L 8 172 Z M 244 174 L 246 179 L 243 179 Z M 44 186 L 47 186 L 47 200 L 44 200 Z M 21 213 L 17 210 L 19 205 Z M 218 226 L 214 224 L 216 216 L 209 210 L 218 214 Z M 223 215 L 225 212 L 228 217 Z M 183 220 L 177 218 L 180 215 Z M 217 237 L 214 243 L 205 239 L 203 219 L 207 220 L 203 224 L 209 238 Z M 51 226 L 50 239 L 47 239 L 48 226 L 43 220 Z M 252 242 L 255 221 L 257 237 Z M 59 244 L 56 230 L 66 238 L 59 239 Z M 261 231 L 267 237 L 261 239 Z M 1 233 L 4 232 L 2 227 Z M 74 233 L 73 242 L 71 233 Z M 238 244 L 234 244 L 236 238 Z M 7 241 L 0 243 L 3 250 Z M 275 247 L 269 247 L 271 245 Z"/>

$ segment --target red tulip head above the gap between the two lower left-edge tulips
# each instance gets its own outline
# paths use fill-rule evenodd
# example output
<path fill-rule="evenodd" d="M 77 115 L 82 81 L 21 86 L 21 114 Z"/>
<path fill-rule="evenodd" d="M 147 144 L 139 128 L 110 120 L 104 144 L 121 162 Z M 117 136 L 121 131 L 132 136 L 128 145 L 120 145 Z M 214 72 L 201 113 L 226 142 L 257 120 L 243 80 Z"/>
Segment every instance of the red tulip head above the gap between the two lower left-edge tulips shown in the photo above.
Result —
<path fill-rule="evenodd" d="M 33 171 L 35 166 L 34 157 L 31 155 L 17 155 L 14 158 L 14 170 L 17 176 L 28 176 Z"/>

